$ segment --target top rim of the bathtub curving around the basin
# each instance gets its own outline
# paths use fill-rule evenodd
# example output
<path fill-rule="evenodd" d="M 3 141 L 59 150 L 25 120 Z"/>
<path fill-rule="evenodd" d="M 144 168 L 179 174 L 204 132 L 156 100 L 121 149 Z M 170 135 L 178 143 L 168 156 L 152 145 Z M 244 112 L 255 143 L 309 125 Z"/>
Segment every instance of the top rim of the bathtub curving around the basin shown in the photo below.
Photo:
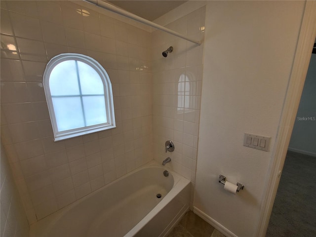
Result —
<path fill-rule="evenodd" d="M 81 202 L 85 201 L 86 199 L 88 199 L 89 197 L 92 197 L 94 195 L 97 195 L 99 192 L 102 192 L 104 189 L 106 189 L 107 187 L 111 186 L 111 185 L 115 185 L 115 183 L 119 182 L 120 180 L 128 177 L 129 175 L 132 175 L 142 169 L 146 169 L 146 168 L 149 168 L 149 167 L 158 167 L 158 168 L 162 168 L 164 170 L 167 170 L 173 177 L 173 186 L 172 186 L 172 189 L 167 193 L 167 195 L 165 197 L 163 197 L 163 199 L 161 199 L 161 201 L 137 224 L 135 225 L 127 234 L 136 234 L 149 220 L 151 220 L 155 215 L 150 215 L 153 210 L 155 210 L 154 212 L 157 214 L 158 211 L 157 210 L 160 210 L 161 207 L 163 207 L 162 204 L 160 204 L 161 202 L 162 203 L 169 203 L 172 198 L 170 197 L 171 195 L 168 195 L 171 191 L 173 194 L 172 197 L 175 197 L 174 193 L 174 189 L 175 187 L 177 186 L 177 184 L 179 184 L 179 182 L 181 184 L 183 184 L 184 180 L 188 181 L 189 183 L 191 181 L 189 181 L 188 179 L 186 179 L 185 177 L 183 177 L 182 175 L 176 173 L 175 171 L 173 171 L 171 168 L 169 167 L 165 167 L 161 164 L 159 164 L 156 160 L 151 160 L 145 164 L 143 164 L 142 166 L 134 169 L 134 170 L 131 170 L 130 172 L 122 175 L 121 177 L 119 177 L 118 179 L 106 184 L 105 186 L 91 192 L 90 194 L 84 196 L 84 197 L 81 197 L 80 199 L 70 203 L 69 205 L 49 214 L 48 216 L 40 219 L 39 221 L 33 223 L 32 225 L 30 225 L 30 231 L 29 231 L 29 236 L 30 237 L 39 237 L 39 234 L 42 233 L 42 229 L 45 229 L 45 230 L 51 230 L 52 227 L 55 225 L 55 223 L 70 209 L 76 207 L 77 205 L 79 205 Z M 184 179 L 184 180 L 183 180 Z M 182 180 L 182 181 L 181 181 Z M 189 184 L 188 183 L 188 184 Z M 179 186 L 179 185 L 178 185 Z M 178 192 L 180 191 L 179 189 L 177 189 Z M 166 201 L 166 202 L 165 202 Z M 160 205 L 159 205 L 160 204 Z M 164 204 L 164 205 L 165 205 Z M 160 209 L 158 209 L 158 207 Z M 144 221 L 145 218 L 150 218 L 150 219 L 146 219 L 147 222 Z M 136 228 L 137 227 L 137 228 Z M 125 234 L 125 237 L 127 237 L 127 234 Z M 130 236 L 130 235 L 128 235 Z"/>

